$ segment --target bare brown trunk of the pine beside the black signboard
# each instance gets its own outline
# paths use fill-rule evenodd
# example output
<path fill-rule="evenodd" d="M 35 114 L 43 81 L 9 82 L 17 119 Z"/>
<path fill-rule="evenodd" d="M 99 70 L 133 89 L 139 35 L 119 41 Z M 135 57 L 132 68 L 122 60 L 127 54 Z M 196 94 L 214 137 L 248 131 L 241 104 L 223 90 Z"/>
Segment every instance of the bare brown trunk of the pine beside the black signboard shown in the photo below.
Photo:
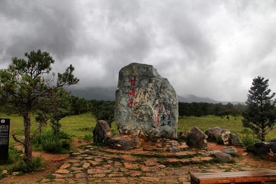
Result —
<path fill-rule="evenodd" d="M 31 119 L 30 114 L 28 113 L 27 116 L 24 116 L 24 127 L 25 127 L 25 155 L 24 155 L 24 162 L 29 164 L 32 159 L 32 138 L 30 135 L 30 127 L 31 127 Z"/>

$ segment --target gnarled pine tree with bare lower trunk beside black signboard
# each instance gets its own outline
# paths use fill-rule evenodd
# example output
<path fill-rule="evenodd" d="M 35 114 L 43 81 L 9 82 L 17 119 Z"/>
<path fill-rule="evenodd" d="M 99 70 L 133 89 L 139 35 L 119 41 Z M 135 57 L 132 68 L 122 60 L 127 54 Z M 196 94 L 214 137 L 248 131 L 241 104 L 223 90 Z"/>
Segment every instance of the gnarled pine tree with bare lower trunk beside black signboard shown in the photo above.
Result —
<path fill-rule="evenodd" d="M 77 84 L 74 78 L 74 67 L 70 65 L 63 74 L 50 73 L 51 64 L 55 61 L 47 52 L 31 51 L 25 53 L 28 58 L 12 58 L 8 69 L 0 71 L 0 101 L 8 103 L 24 119 L 25 141 L 15 141 L 25 146 L 24 162 L 29 164 L 32 158 L 32 138 L 41 130 L 48 120 L 74 113 L 76 107 L 70 100 L 64 86 Z M 73 110 L 73 111 L 72 111 Z M 40 118 L 37 130 L 31 134 L 31 112 L 39 112 Z"/>

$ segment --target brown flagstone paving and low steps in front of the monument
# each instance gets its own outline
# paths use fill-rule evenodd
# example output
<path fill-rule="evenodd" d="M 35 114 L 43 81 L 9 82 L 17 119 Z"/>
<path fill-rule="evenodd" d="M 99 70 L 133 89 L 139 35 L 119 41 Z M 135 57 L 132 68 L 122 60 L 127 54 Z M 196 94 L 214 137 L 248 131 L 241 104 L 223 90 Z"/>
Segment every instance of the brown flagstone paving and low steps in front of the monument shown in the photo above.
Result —
<path fill-rule="evenodd" d="M 183 147 L 184 148 L 184 147 Z M 209 151 L 159 152 L 156 147 L 129 151 L 87 146 L 73 153 L 54 173 L 36 183 L 190 183 L 193 172 L 276 169 L 276 164 L 254 165 L 235 159 L 232 164 L 214 163 Z M 1 181 L 1 180 L 0 180 Z M 12 183 L 28 183 L 27 181 Z"/>

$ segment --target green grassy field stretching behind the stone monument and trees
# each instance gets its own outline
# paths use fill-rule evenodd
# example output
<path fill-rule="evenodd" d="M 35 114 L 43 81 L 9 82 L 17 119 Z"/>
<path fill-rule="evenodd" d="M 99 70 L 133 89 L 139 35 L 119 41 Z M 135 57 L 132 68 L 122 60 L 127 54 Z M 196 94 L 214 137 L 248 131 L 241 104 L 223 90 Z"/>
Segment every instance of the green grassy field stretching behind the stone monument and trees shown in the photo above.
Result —
<path fill-rule="evenodd" d="M 20 116 L 12 115 L 7 116 L 2 114 L 1 118 L 11 119 L 10 123 L 10 144 L 15 143 L 12 139 L 12 131 L 15 132 L 17 137 L 21 139 L 24 135 L 24 125 L 23 118 Z M 242 117 L 237 117 L 236 120 L 234 117 L 230 116 L 228 121 L 226 118 L 215 117 L 215 116 L 206 116 L 206 117 L 179 117 L 177 131 L 191 130 L 193 127 L 198 127 L 201 131 L 205 132 L 206 129 L 210 127 L 221 127 L 222 129 L 230 130 L 235 134 L 245 134 L 250 131 L 245 130 L 242 126 Z M 34 121 L 34 118 L 33 118 Z M 63 118 L 60 123 L 62 124 L 61 129 L 67 130 L 74 134 L 74 139 L 82 140 L 85 135 L 93 134 L 93 129 L 97 123 L 97 120 L 91 113 L 80 114 L 78 116 L 71 116 Z M 32 123 L 31 130 L 35 130 L 37 124 Z M 51 128 L 50 125 L 47 125 L 46 128 Z M 118 134 L 118 130 L 115 122 L 112 123 L 111 130 L 113 134 Z M 269 141 L 272 138 L 276 137 L 276 129 L 273 129 L 266 136 L 266 140 Z"/>

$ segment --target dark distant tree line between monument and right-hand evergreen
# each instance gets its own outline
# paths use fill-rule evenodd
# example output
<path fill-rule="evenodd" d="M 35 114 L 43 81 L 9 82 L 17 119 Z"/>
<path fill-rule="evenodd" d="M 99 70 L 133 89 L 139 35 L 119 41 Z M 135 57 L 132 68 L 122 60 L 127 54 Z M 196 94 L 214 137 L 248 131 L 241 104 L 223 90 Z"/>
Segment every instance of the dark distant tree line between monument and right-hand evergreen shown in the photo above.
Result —
<path fill-rule="evenodd" d="M 206 102 L 178 103 L 178 113 L 181 118 L 183 118 L 183 116 L 205 117 L 208 115 L 227 116 L 227 118 L 229 118 L 229 115 L 232 115 L 236 118 L 240 116 L 242 111 L 246 110 L 246 108 L 246 105 L 240 103 L 236 105 L 232 103 L 223 105 L 222 103 L 213 104 Z"/>

